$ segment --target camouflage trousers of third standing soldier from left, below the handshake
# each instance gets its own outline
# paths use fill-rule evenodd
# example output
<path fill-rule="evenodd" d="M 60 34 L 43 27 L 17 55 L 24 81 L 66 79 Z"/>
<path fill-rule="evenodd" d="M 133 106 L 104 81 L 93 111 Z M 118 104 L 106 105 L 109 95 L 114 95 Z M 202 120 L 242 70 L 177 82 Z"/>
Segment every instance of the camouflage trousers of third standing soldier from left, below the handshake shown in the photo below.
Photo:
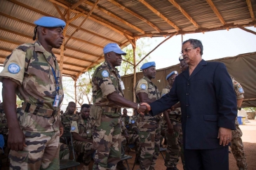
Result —
<path fill-rule="evenodd" d="M 160 152 L 159 122 L 138 122 L 140 130 L 140 170 L 154 169 Z"/>

